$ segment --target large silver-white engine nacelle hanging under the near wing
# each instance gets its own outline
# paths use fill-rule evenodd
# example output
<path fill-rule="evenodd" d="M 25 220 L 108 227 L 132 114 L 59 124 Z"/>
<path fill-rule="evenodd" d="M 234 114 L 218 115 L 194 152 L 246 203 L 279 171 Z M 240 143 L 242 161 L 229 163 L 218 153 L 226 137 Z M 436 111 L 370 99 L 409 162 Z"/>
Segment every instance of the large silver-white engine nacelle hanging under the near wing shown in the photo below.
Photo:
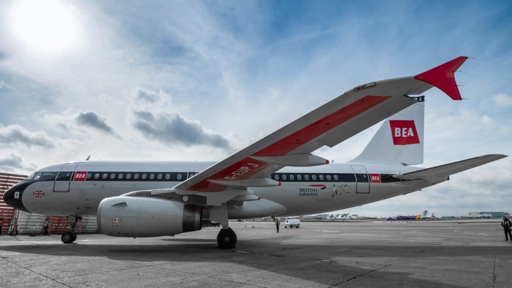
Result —
<path fill-rule="evenodd" d="M 150 197 L 105 198 L 98 207 L 98 229 L 108 236 L 158 237 L 201 230 L 202 208 Z"/>

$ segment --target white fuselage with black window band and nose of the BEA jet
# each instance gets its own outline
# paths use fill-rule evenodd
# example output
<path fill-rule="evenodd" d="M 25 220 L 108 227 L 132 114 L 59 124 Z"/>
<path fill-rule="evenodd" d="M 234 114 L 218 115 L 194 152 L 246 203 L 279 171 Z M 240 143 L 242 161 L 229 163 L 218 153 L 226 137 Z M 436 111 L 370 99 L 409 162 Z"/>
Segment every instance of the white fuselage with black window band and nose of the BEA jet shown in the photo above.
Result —
<path fill-rule="evenodd" d="M 214 162 L 84 161 L 41 169 L 9 189 L 6 202 L 43 215 L 95 215 L 107 197 L 139 190 L 172 188 Z M 281 186 L 251 188 L 255 196 L 283 205 L 281 216 L 342 210 L 417 191 L 434 183 L 392 177 L 418 168 L 383 164 L 331 163 L 318 167 L 285 167 L 269 175 Z M 445 181 L 438 179 L 435 183 Z M 255 205 L 259 201 L 247 201 Z M 270 213 L 270 212 L 269 212 Z M 261 215 L 233 214 L 230 218 Z M 272 216 L 272 215 L 265 215 Z"/>

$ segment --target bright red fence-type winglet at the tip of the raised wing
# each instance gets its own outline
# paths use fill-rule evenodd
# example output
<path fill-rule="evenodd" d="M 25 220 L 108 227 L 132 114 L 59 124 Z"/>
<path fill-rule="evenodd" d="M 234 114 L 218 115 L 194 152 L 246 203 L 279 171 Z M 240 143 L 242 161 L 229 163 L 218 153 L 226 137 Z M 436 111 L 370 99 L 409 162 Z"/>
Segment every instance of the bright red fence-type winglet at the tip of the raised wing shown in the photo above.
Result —
<path fill-rule="evenodd" d="M 455 82 L 454 73 L 466 59 L 466 56 L 457 57 L 445 64 L 437 66 L 436 68 L 414 76 L 414 79 L 439 88 L 454 100 L 462 100 L 459 88 L 457 88 L 457 83 Z"/>

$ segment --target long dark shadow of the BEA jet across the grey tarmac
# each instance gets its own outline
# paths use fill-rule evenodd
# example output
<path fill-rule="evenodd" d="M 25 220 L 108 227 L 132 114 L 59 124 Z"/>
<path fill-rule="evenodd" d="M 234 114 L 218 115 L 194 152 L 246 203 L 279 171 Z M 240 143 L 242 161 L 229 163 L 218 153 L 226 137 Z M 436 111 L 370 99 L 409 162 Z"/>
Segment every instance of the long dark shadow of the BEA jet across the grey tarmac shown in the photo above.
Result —
<path fill-rule="evenodd" d="M 215 240 L 212 239 L 162 239 L 173 242 L 170 244 L 96 244 L 96 243 L 73 243 L 73 244 L 24 244 L 0 246 L 0 251 L 13 253 L 27 253 L 41 255 L 43 257 L 106 257 L 119 261 L 157 262 L 165 263 L 203 263 L 212 262 L 232 263 L 246 266 L 248 269 L 258 269 L 277 273 L 286 279 L 293 277 L 324 285 L 339 285 L 344 283 L 350 286 L 350 281 L 376 281 L 382 279 L 393 286 L 415 287 L 465 287 L 466 285 L 451 285 L 444 283 L 441 279 L 436 281 L 418 279 L 406 271 L 425 271 L 431 269 L 426 264 L 415 264 L 411 261 L 416 257 L 422 260 L 430 257 L 457 257 L 483 256 L 488 259 L 497 253 L 496 248 L 468 247 L 468 246 L 367 246 L 367 245 L 343 245 L 333 243 L 332 245 L 315 244 L 291 244 L 282 247 L 276 242 L 260 240 L 240 240 L 238 247 L 232 250 L 218 249 Z M 192 243 L 178 243 L 191 241 Z M 174 243 L 176 242 L 176 243 Z M 204 243 L 198 243 L 204 242 Z M 206 243 L 207 242 L 207 243 Z M 327 251 L 327 252 L 326 252 Z M 324 255 L 325 259 L 322 258 Z M 8 257 L 16 258 L 14 254 Z M 357 266 L 347 265 L 335 260 L 336 257 L 344 258 L 348 263 L 357 263 Z M 371 258 L 371 259 L 370 259 Z M 365 260 L 368 259 L 368 260 Z M 380 260 L 377 260 L 380 259 Z M 42 260 L 47 261 L 45 258 Z M 400 263 L 403 261 L 402 263 Z M 437 261 L 437 259 L 436 259 Z M 58 264 L 48 263 L 47 264 Z M 463 273 L 471 273 L 475 267 L 467 264 L 453 268 Z M 361 268 L 364 266 L 364 268 Z M 392 268 L 394 271 L 389 271 Z M 397 268 L 403 267 L 404 271 L 396 272 Z M 438 268 L 439 269 L 439 268 Z M 429 273 L 436 275 L 437 270 L 432 269 Z M 469 274 L 468 274 L 469 275 Z M 260 277 L 260 276 L 257 276 Z M 289 279 L 289 278 L 288 278 Z M 250 279 L 247 284 L 251 284 Z M 355 284 L 355 282 L 354 282 Z M 361 283 L 359 283 L 360 285 Z"/>

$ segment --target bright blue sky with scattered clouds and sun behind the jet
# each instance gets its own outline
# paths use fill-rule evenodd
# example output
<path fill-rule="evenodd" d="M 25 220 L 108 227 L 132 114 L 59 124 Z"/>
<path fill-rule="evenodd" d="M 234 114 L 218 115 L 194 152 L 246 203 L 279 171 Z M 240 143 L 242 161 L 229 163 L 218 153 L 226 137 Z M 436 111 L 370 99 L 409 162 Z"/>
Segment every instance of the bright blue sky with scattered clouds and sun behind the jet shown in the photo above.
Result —
<path fill-rule="evenodd" d="M 425 93 L 432 167 L 512 154 L 510 1 L 2 1 L 0 171 L 218 161 L 352 87 L 458 56 L 462 101 Z M 378 125 L 314 154 L 355 158 Z M 340 212 L 512 212 L 512 157 Z"/>

